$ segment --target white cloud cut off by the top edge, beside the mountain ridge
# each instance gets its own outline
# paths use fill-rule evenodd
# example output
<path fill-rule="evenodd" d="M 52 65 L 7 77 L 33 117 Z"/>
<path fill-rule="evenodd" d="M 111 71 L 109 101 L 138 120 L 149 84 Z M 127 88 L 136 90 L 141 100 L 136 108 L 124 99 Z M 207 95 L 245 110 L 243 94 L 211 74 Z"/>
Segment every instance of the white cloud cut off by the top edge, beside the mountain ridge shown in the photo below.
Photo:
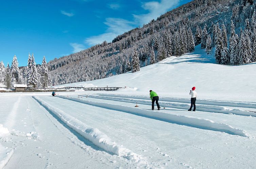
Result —
<path fill-rule="evenodd" d="M 149 11 L 149 13 L 133 15 L 135 22 L 143 25 L 150 22 L 152 19 L 157 19 L 157 17 L 166 13 L 171 8 L 176 7 L 179 2 L 180 0 L 161 0 L 161 2 L 151 1 L 142 3 L 144 10 Z"/>

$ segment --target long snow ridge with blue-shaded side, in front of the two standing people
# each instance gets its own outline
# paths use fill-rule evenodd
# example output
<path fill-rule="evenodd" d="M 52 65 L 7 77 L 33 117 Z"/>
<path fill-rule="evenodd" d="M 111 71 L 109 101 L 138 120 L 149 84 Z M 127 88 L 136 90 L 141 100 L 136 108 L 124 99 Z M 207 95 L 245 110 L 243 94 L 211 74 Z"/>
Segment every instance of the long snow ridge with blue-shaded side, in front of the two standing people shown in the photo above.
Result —
<path fill-rule="evenodd" d="M 112 105 L 112 104 L 96 102 L 96 101 L 87 101 L 79 98 L 71 98 L 66 96 L 57 96 L 57 97 L 63 98 L 63 99 L 69 99 L 72 101 L 77 101 L 77 102 L 84 103 L 91 106 L 135 114 L 143 117 L 166 121 L 169 123 L 175 123 L 178 125 L 185 125 L 185 126 L 195 127 L 199 129 L 220 131 L 220 132 L 225 132 L 232 135 L 240 135 L 248 138 L 254 138 L 254 136 L 251 136 L 245 130 L 234 128 L 224 123 L 216 123 L 209 119 L 195 118 L 192 116 L 184 116 L 184 115 L 178 115 L 178 114 L 167 114 L 164 112 L 152 112 L 150 110 L 136 109 L 136 108 L 131 108 L 127 106 Z"/>

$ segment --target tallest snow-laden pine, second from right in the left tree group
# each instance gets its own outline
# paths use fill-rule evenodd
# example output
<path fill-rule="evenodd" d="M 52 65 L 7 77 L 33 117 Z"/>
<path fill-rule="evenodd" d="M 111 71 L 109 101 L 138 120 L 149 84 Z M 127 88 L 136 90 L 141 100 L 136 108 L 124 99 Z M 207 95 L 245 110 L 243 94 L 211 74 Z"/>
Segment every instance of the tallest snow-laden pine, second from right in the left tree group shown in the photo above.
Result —
<path fill-rule="evenodd" d="M 31 60 L 30 60 L 30 70 L 29 70 L 29 77 L 28 77 L 27 83 L 30 88 L 37 88 L 39 86 L 38 72 L 36 68 L 34 54 L 32 54 Z"/>

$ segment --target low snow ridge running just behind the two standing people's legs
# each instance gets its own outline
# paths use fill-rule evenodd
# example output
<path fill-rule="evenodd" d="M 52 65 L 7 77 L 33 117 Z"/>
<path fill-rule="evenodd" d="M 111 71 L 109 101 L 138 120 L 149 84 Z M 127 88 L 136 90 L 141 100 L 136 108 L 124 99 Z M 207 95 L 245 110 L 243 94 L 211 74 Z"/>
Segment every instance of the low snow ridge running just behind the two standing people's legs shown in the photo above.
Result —
<path fill-rule="evenodd" d="M 106 95 L 106 94 L 104 94 L 104 95 Z M 103 96 L 103 94 L 100 94 L 100 95 L 78 95 L 78 96 L 105 99 L 105 100 L 113 100 L 113 101 L 122 101 L 122 102 L 129 102 L 129 103 L 138 103 L 138 104 L 143 104 L 143 105 L 151 105 L 151 101 L 148 100 L 148 97 L 142 98 L 144 96 L 138 96 L 139 98 L 137 98 L 137 99 L 126 98 L 124 96 L 116 97 L 119 95 Z M 145 99 L 147 99 L 147 100 L 145 100 Z M 165 101 L 165 102 L 163 102 L 163 101 Z M 170 108 L 177 108 L 177 109 L 184 109 L 184 110 L 187 110 L 190 107 L 190 104 L 188 104 L 188 103 L 171 102 L 171 101 L 162 100 L 162 98 L 161 98 L 161 102 L 159 104 L 162 107 L 170 107 Z M 222 106 L 214 106 L 214 105 L 197 104 L 196 106 L 197 106 L 198 111 L 211 112 L 211 113 L 223 113 L 223 114 L 236 114 L 236 115 L 242 115 L 242 116 L 256 117 L 256 113 L 252 112 L 252 111 L 246 111 L 246 110 L 241 110 L 241 109 L 230 109 L 230 108 L 226 108 L 226 107 L 222 107 Z"/>

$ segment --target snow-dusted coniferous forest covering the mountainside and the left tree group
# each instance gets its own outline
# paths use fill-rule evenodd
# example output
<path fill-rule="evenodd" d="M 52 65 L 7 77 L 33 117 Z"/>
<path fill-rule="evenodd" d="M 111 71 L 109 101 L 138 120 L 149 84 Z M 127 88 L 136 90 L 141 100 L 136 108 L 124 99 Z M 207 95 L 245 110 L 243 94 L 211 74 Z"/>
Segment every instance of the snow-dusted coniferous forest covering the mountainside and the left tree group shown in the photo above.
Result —
<path fill-rule="evenodd" d="M 131 71 L 170 56 L 193 52 L 201 45 L 217 64 L 256 61 L 256 2 L 254 0 L 194 0 L 89 49 L 36 65 L 0 63 L 0 83 L 31 88 L 89 81 Z"/>

